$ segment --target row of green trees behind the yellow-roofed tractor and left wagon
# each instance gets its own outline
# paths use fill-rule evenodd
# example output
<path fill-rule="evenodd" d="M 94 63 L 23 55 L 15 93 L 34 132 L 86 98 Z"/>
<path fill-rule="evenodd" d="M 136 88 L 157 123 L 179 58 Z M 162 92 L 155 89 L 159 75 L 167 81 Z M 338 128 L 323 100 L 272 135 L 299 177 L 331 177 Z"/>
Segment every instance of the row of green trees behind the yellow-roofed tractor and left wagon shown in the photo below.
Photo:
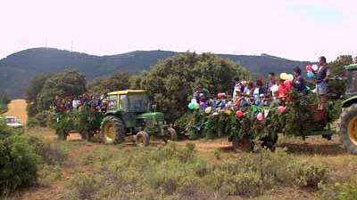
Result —
<path fill-rule="evenodd" d="M 233 79 L 247 78 L 245 68 L 235 62 L 220 59 L 211 53 L 187 52 L 161 60 L 150 71 L 136 76 L 117 72 L 112 76 L 97 78 L 87 83 L 85 76 L 77 71 L 65 70 L 59 73 L 36 76 L 27 88 L 28 113 L 30 117 L 43 116 L 56 95 L 78 96 L 83 93 L 99 95 L 126 89 L 145 89 L 158 109 L 174 121 L 186 112 L 187 104 L 196 85 L 200 84 L 210 92 L 229 92 Z"/>

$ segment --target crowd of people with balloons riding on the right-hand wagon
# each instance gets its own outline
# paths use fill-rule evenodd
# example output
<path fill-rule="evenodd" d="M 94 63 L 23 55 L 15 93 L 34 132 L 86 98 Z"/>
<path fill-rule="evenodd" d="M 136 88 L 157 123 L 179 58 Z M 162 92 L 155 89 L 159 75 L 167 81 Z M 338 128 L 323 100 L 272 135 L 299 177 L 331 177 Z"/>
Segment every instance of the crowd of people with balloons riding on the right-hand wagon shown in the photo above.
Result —
<path fill-rule="evenodd" d="M 232 95 L 220 92 L 217 98 L 210 97 L 207 89 L 197 86 L 193 100 L 198 103 L 200 109 L 281 105 L 290 100 L 289 93 L 292 90 L 307 94 L 311 90 L 308 84 L 314 84 L 315 89 L 311 91 L 318 94 L 318 108 L 324 109 L 327 102 L 328 78 L 331 76 L 326 58 L 320 57 L 316 68 L 312 69 L 310 66 L 307 70 L 312 73 L 309 80 L 303 77 L 302 69 L 298 67 L 294 68 L 292 74 L 281 73 L 277 76 L 271 72 L 265 84 L 261 79 L 255 82 L 236 79 Z"/>

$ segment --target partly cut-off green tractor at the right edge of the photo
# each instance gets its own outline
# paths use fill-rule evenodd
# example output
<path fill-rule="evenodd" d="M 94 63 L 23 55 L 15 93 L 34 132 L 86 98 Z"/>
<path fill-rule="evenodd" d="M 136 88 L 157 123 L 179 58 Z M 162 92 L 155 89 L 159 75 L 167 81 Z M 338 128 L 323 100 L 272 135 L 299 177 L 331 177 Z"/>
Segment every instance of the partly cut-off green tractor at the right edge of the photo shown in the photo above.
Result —
<path fill-rule="evenodd" d="M 357 155 L 357 64 L 345 67 L 347 76 L 347 100 L 337 126 L 340 140 L 348 152 Z"/>

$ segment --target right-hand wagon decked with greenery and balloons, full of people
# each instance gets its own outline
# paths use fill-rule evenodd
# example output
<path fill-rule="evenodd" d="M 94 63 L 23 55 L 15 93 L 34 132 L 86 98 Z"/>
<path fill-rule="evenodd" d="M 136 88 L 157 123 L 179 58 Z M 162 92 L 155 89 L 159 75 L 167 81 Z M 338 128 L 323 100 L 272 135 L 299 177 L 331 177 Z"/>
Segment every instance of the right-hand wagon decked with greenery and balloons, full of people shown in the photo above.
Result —
<path fill-rule="evenodd" d="M 301 68 L 291 74 L 270 73 L 266 83 L 236 79 L 232 95 L 210 95 L 197 86 L 187 105 L 191 114 L 183 127 L 186 134 L 209 139 L 228 136 L 234 148 L 244 150 L 252 150 L 256 140 L 274 148 L 279 132 L 330 139 L 335 120 L 326 98 L 330 69 L 324 57 L 305 69 L 307 79 Z"/>

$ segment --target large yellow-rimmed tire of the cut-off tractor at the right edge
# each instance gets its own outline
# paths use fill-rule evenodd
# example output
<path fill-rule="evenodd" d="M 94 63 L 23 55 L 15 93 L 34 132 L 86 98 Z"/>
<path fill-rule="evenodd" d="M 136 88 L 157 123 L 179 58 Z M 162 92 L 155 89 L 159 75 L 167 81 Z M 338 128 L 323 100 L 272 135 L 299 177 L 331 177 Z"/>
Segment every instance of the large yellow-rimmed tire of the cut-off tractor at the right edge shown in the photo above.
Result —
<path fill-rule="evenodd" d="M 357 104 L 342 110 L 337 131 L 347 151 L 357 155 Z"/>

